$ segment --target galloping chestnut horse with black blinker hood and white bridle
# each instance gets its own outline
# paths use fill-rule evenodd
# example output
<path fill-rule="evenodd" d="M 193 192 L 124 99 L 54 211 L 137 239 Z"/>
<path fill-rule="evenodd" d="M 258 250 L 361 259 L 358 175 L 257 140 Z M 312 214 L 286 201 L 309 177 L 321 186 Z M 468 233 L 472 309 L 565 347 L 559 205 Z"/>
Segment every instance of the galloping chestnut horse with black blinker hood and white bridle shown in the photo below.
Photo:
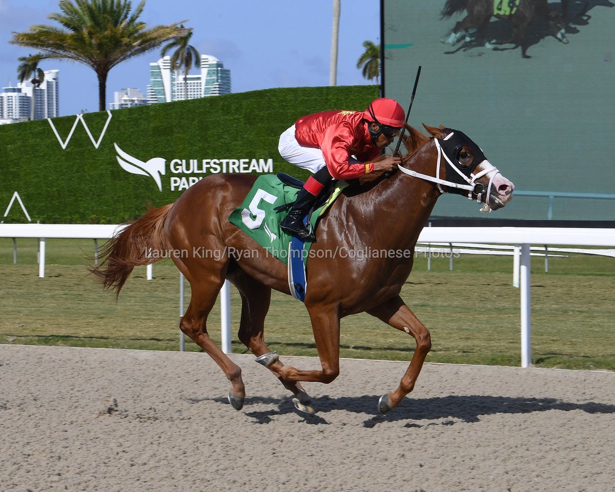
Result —
<path fill-rule="evenodd" d="M 172 255 L 192 288 L 180 327 L 231 381 L 229 402 L 236 410 L 242 408 L 245 398 L 241 370 L 212 342 L 206 327 L 224 279 L 229 279 L 241 296 L 240 341 L 295 395 L 293 402 L 300 410 L 314 411 L 300 381 L 331 383 L 339 375 L 339 320 L 368 312 L 416 339 L 415 352 L 399 387 L 379 400 L 378 410 L 386 413 L 412 391 L 431 349 L 429 331 L 399 293 L 412 269 L 416 240 L 436 200 L 443 192 L 457 191 L 482 202 L 485 209 L 496 210 L 507 204 L 514 189 L 466 135 L 443 126 L 425 128 L 434 138 L 407 125 L 405 141 L 411 154 L 402 158 L 398 172 L 369 175 L 351 184 L 320 218 L 312 245 L 315 253 L 340 248 L 395 252 L 367 258 L 309 256 L 304 302 L 321 370 L 284 365 L 264 342 L 271 289 L 290 295 L 287 266 L 228 220 L 247 196 L 255 175 L 212 175 L 199 181 L 174 204 L 151 210 L 116 234 L 103 248 L 103 263 L 92 272 L 105 288 L 113 288 L 119 295 L 135 266 L 156 261 L 148 258 L 146 251 L 191 252 L 200 248 L 215 253 Z"/>

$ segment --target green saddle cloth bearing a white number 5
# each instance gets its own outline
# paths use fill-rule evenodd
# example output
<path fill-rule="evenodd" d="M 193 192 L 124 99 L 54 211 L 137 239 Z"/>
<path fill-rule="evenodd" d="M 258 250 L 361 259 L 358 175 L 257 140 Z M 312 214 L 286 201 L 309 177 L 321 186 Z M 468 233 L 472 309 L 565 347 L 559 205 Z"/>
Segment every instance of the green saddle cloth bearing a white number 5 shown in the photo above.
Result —
<path fill-rule="evenodd" d="M 310 218 L 312 228 L 316 229 L 316 224 L 320 215 L 327 210 L 335 201 L 347 183 L 339 181 L 330 199 L 322 207 L 314 210 Z M 274 210 L 284 204 L 295 202 L 299 189 L 285 185 L 274 174 L 264 174 L 256 178 L 252 189 L 248 192 L 244 202 L 237 207 L 229 216 L 229 221 L 244 231 L 260 244 L 268 254 L 275 256 L 282 263 L 288 264 L 288 244 L 292 236 L 280 229 L 280 222 L 285 218 L 287 209 Z M 306 243 L 304 249 L 304 262 L 308 259 L 309 247 L 311 243 Z M 258 254 L 258 252 L 244 252 L 248 254 Z"/>

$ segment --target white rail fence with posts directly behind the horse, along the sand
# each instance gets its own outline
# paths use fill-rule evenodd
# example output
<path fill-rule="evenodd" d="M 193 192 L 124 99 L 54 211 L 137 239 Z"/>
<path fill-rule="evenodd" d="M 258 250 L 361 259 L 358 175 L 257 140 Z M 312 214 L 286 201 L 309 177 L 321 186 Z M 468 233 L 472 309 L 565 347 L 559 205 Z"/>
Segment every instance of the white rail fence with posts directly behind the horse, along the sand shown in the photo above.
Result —
<path fill-rule="evenodd" d="M 92 224 L 0 224 L 0 237 L 39 239 L 39 277 L 45 276 L 46 238 L 109 239 L 119 231 L 115 225 Z M 615 247 L 615 229 L 522 228 L 522 227 L 431 227 L 424 228 L 419 244 L 509 245 L 514 252 L 514 284 L 520 287 L 521 367 L 531 365 L 531 245 Z M 15 245 L 14 241 L 14 245 Z M 96 243 L 95 243 L 96 244 Z M 494 247 L 495 249 L 495 247 Z M 607 253 L 611 254 L 611 253 Z M 152 278 L 151 265 L 148 279 Z M 180 274 L 181 276 L 181 274 Z M 516 280 L 515 280 L 516 279 Z M 229 282 L 220 292 L 222 349 L 231 352 L 231 304 Z M 180 316 L 183 315 L 183 277 L 180 277 Z M 183 335 L 180 338 L 183 350 Z"/>

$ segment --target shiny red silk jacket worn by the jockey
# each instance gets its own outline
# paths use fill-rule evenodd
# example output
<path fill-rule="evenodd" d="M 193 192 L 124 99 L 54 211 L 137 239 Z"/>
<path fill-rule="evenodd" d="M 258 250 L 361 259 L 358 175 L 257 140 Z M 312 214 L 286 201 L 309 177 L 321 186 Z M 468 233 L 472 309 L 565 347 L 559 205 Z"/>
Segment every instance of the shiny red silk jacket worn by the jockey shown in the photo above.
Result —
<path fill-rule="evenodd" d="M 363 111 L 323 111 L 308 114 L 295 122 L 295 138 L 304 147 L 319 148 L 325 163 L 336 180 L 358 178 L 374 170 L 373 159 L 380 155 L 371 143 L 370 132 L 363 121 Z M 367 164 L 350 164 L 356 156 Z"/>

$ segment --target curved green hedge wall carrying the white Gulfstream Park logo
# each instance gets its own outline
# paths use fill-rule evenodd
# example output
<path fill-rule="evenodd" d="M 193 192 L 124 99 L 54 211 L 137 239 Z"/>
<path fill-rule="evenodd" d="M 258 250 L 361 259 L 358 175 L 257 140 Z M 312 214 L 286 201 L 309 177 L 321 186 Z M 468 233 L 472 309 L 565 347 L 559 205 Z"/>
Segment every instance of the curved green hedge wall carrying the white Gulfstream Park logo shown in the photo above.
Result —
<path fill-rule="evenodd" d="M 121 223 L 146 210 L 177 200 L 183 189 L 170 183 L 206 173 L 174 173 L 174 159 L 263 159 L 272 172 L 306 178 L 280 157 L 280 133 L 300 116 L 327 109 L 364 109 L 378 97 L 378 86 L 268 89 L 177 101 L 108 113 L 82 115 L 92 138 L 76 116 L 0 126 L 0 213 L 17 191 L 31 220 L 41 223 Z M 93 143 L 108 127 L 98 148 Z M 67 141 L 71 129 L 74 131 Z M 63 149 L 60 140 L 66 142 Z M 92 141 L 93 140 L 93 141 Z M 118 164 L 114 143 L 141 162 L 164 159 L 162 191 L 149 175 Z M 257 162 L 255 161 L 255 162 Z M 194 162 L 194 161 L 193 161 Z M 246 165 L 247 167 L 247 165 Z M 199 170 L 200 170 L 199 169 Z M 185 183 L 184 183 L 185 185 Z M 7 223 L 26 222 L 17 200 Z"/>

